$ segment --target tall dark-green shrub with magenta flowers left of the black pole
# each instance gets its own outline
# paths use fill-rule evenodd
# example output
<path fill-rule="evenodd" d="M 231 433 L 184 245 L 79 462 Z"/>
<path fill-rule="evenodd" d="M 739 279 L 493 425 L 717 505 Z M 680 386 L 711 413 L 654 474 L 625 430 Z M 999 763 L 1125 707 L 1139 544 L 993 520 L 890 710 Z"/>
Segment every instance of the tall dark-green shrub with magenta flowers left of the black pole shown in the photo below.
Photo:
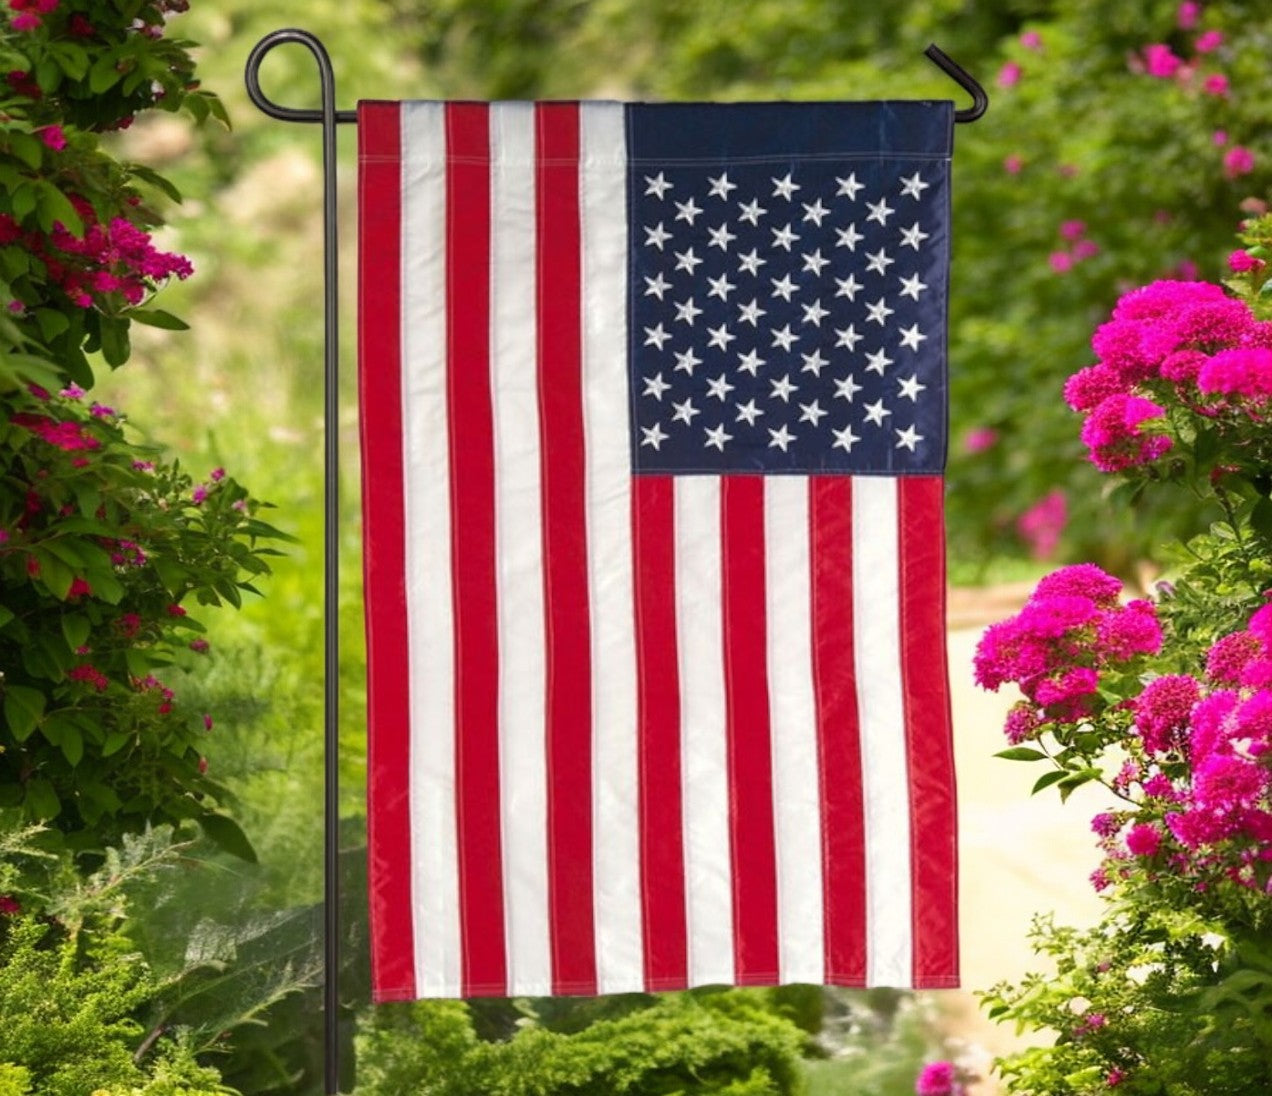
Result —
<path fill-rule="evenodd" d="M 223 469 L 192 482 L 89 395 L 132 320 L 184 327 L 144 306 L 192 272 L 150 235 L 177 195 L 99 135 L 150 108 L 224 118 L 167 37 L 186 6 L 13 0 L 0 34 L 0 807 L 79 849 L 193 819 L 251 857 L 201 755 L 214 717 L 167 679 L 276 534 Z"/>

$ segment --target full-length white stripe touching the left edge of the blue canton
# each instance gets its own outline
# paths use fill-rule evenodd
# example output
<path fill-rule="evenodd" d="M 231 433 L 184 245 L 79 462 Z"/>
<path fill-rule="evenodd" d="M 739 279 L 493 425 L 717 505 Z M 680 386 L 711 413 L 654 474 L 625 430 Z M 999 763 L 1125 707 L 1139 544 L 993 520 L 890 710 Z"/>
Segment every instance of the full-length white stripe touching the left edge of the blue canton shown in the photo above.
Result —
<path fill-rule="evenodd" d="M 644 989 L 623 108 L 586 103 L 579 123 L 597 979 L 619 993 Z"/>

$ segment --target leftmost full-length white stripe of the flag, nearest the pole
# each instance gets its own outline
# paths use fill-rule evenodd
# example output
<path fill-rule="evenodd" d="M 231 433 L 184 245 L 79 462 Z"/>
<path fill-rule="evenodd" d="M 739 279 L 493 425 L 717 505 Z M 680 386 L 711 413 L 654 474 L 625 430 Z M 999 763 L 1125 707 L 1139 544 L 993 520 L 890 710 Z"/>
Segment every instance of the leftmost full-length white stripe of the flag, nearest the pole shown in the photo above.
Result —
<path fill-rule="evenodd" d="M 441 104 L 402 106 L 402 441 L 411 666 L 416 993 L 458 996 L 450 456 L 446 449 L 446 181 Z M 374 413 L 374 408 L 364 408 Z"/>

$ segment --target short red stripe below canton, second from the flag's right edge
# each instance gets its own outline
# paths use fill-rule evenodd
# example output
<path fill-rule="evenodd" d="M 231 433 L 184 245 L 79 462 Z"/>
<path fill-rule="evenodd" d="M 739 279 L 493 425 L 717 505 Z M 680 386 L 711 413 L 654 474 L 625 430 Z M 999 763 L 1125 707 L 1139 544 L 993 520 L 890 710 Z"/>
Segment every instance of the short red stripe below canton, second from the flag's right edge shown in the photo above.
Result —
<path fill-rule="evenodd" d="M 809 481 L 826 982 L 866 982 L 866 852 L 852 638 L 852 479 Z"/>

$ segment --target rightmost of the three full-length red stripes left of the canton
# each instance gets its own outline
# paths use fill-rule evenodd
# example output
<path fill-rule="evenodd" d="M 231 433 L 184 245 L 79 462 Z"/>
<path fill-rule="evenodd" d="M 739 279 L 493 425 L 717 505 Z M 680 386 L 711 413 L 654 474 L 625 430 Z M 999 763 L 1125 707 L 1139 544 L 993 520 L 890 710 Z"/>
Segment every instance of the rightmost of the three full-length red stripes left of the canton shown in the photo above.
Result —
<path fill-rule="evenodd" d="M 534 112 L 553 993 L 595 993 L 579 108 Z"/>

